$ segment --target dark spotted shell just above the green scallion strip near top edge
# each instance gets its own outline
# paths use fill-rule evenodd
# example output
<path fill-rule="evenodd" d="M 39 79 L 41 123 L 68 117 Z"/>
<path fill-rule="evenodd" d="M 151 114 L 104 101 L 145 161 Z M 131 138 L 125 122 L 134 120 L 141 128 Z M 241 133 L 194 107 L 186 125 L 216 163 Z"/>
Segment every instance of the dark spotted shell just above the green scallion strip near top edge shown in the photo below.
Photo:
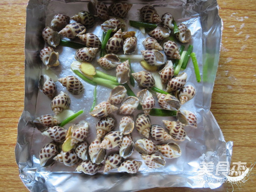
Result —
<path fill-rule="evenodd" d="M 157 14 L 156 9 L 152 6 L 144 6 L 140 9 L 140 16 L 145 23 L 160 23 L 161 19 Z"/>

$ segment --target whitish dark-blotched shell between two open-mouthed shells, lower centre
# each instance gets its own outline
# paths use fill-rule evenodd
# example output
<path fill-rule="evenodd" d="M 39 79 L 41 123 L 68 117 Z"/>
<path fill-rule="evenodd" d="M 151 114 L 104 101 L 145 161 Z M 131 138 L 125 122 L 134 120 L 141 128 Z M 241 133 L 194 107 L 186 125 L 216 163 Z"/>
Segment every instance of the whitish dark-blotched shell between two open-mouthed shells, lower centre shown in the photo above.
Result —
<path fill-rule="evenodd" d="M 120 131 L 111 131 L 106 134 L 99 147 L 110 150 L 119 145 L 122 141 L 122 137 L 123 136 L 120 134 Z"/>

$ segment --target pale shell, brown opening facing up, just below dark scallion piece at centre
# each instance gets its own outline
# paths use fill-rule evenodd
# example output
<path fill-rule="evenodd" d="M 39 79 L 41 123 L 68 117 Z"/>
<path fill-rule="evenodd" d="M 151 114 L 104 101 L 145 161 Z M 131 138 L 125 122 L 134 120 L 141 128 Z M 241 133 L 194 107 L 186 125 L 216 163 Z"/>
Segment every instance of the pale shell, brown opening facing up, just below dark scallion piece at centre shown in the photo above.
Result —
<path fill-rule="evenodd" d="M 128 96 L 122 101 L 122 105 L 119 108 L 119 114 L 131 115 L 139 105 L 139 99 L 134 96 Z"/>

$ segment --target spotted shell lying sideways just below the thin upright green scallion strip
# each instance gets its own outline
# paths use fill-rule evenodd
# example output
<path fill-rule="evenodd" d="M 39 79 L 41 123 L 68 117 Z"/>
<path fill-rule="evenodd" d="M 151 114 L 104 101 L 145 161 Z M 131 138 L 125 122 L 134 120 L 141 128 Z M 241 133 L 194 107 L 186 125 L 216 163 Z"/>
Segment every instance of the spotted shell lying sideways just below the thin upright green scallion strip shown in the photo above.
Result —
<path fill-rule="evenodd" d="M 118 108 L 114 105 L 111 105 L 110 102 L 101 102 L 99 105 L 95 106 L 93 111 L 90 112 L 90 115 L 96 118 L 102 118 L 110 115 L 117 110 Z"/>

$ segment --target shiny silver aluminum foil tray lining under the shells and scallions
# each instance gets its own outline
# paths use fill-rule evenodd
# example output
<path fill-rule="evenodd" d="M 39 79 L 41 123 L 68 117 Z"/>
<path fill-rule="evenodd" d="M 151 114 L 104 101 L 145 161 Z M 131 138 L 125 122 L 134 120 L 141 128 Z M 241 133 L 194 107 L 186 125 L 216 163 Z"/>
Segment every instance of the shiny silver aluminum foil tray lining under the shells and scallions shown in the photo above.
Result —
<path fill-rule="evenodd" d="M 104 1 L 111 3 L 111 1 Z M 140 172 L 135 175 L 117 173 L 114 169 L 108 174 L 103 174 L 102 169 L 93 176 L 84 175 L 75 171 L 75 168 L 55 163 L 51 167 L 41 167 L 38 159 L 40 149 L 51 140 L 41 135 L 35 128 L 32 121 L 43 114 L 52 114 L 50 100 L 40 90 L 38 90 L 38 80 L 41 74 L 45 73 L 45 66 L 39 58 L 40 50 L 46 45 L 42 39 L 41 32 L 46 25 L 49 25 L 52 16 L 56 13 L 65 15 L 75 15 L 81 10 L 87 10 L 88 1 L 82 0 L 30 0 L 27 6 L 26 17 L 26 42 L 25 42 L 25 101 L 24 111 L 20 117 L 17 133 L 17 145 L 15 148 L 16 161 L 20 170 L 20 177 L 25 186 L 30 191 L 137 191 L 154 187 L 186 186 L 191 188 L 209 187 L 211 189 L 221 186 L 222 183 L 206 183 L 202 179 L 219 180 L 224 176 L 198 175 L 202 162 L 214 163 L 214 170 L 220 161 L 230 162 L 232 154 L 232 142 L 225 142 L 221 129 L 214 116 L 209 111 L 211 105 L 211 94 L 214 85 L 215 75 L 218 67 L 222 20 L 218 16 L 218 5 L 216 0 L 160 0 L 142 1 L 128 0 L 133 6 L 125 18 L 128 20 L 140 20 L 138 9 L 147 5 L 152 5 L 161 16 L 165 12 L 170 12 L 177 22 L 185 23 L 192 32 L 192 40 L 189 44 L 194 46 L 201 71 L 202 82 L 197 83 L 190 63 L 185 70 L 188 74 L 187 82 L 196 88 L 195 97 L 182 106 L 196 114 L 198 118 L 198 128 L 186 128 L 188 137 L 191 139 L 177 142 L 180 145 L 182 155 L 176 159 L 166 159 L 166 166 L 159 169 L 149 169 L 145 164 L 140 167 Z M 102 31 L 97 21 L 95 27 L 87 32 L 95 33 L 101 38 Z M 138 38 L 137 54 L 144 49 L 141 41 L 148 35 L 139 30 L 135 30 Z M 188 45 L 186 45 L 187 47 Z M 68 47 L 57 47 L 59 52 L 59 67 L 51 69 L 58 77 L 73 75 L 70 64 L 75 61 L 75 49 Z M 135 53 L 136 54 L 136 53 Z M 99 57 L 97 55 L 96 57 Z M 190 61 L 191 62 L 191 61 Z M 132 62 L 134 71 L 143 70 L 139 63 Z M 97 69 L 102 70 L 97 64 Z M 104 71 L 104 70 L 103 70 Z M 115 70 L 108 71 L 115 75 Z M 71 97 L 70 109 L 73 111 L 84 110 L 84 113 L 75 121 L 65 125 L 70 125 L 86 120 L 90 124 L 90 143 L 96 135 L 95 123 L 98 119 L 92 118 L 88 112 L 92 105 L 92 95 L 94 87 L 81 81 L 85 91 L 79 96 Z M 66 91 L 60 83 L 56 83 L 58 93 Z M 135 93 L 139 89 L 133 89 Z M 110 90 L 98 86 L 97 101 L 108 99 Z M 157 106 L 156 106 L 157 107 Z M 134 116 L 141 111 L 134 113 Z M 116 116 L 117 122 L 121 116 Z M 174 117 L 153 117 L 151 122 L 162 125 L 162 119 L 175 120 Z M 118 130 L 118 127 L 116 127 Z M 133 139 L 136 141 L 140 135 L 133 131 Z M 116 150 L 114 150 L 116 151 Z M 111 151 L 113 152 L 113 151 Z M 108 151 L 108 154 L 110 151 Z M 129 159 L 141 160 L 140 154 L 134 151 Z"/>

